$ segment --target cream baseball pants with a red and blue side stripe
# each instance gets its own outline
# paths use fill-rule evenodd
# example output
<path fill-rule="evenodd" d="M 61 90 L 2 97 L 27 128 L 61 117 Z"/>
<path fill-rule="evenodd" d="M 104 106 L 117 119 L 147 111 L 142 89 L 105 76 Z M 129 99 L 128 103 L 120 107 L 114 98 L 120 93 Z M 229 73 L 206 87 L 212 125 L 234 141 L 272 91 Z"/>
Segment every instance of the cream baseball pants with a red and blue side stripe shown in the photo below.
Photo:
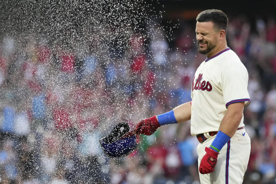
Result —
<path fill-rule="evenodd" d="M 216 135 L 197 146 L 198 167 L 205 155 L 205 147 L 210 147 Z M 250 137 L 245 129 L 237 130 L 233 137 L 223 146 L 218 155 L 215 171 L 201 174 L 201 184 L 242 184 L 250 155 Z"/>

